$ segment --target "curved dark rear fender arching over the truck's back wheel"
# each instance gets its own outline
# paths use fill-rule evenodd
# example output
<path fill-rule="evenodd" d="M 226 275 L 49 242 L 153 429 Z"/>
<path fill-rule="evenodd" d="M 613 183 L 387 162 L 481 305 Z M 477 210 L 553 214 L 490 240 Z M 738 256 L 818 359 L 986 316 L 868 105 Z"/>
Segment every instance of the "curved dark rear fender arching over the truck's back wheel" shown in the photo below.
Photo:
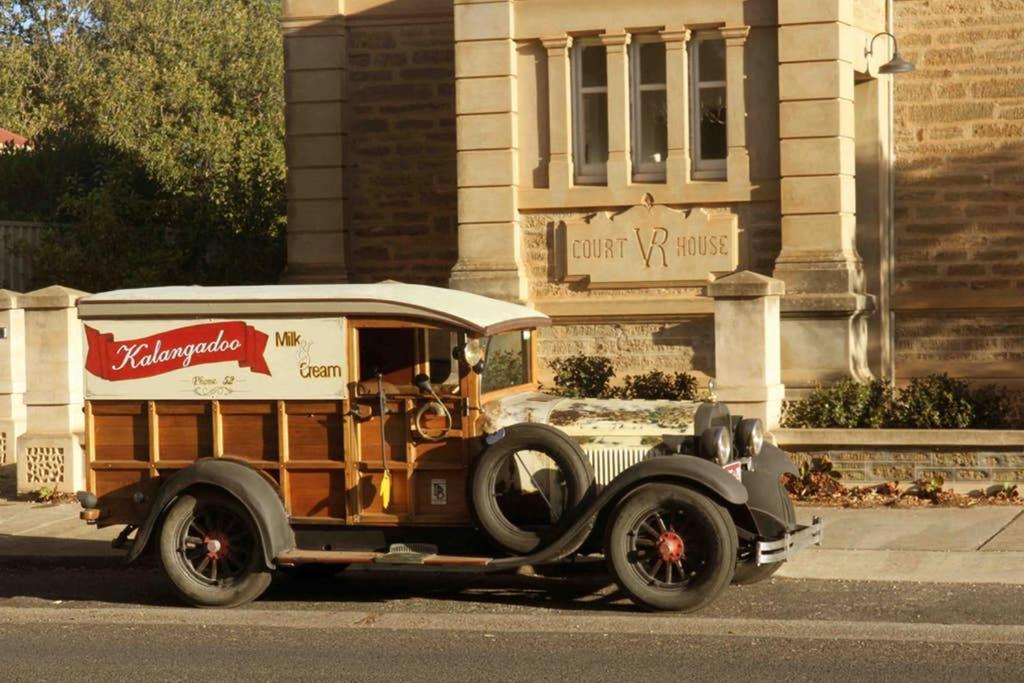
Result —
<path fill-rule="evenodd" d="M 295 548 L 295 533 L 288 521 L 288 511 L 270 482 L 245 463 L 207 458 L 175 472 L 160 487 L 150 514 L 132 544 L 128 562 L 135 561 L 142 554 L 164 513 L 178 496 L 197 485 L 219 488 L 249 511 L 259 528 L 267 568 L 273 568 L 273 560 L 282 552 Z"/>

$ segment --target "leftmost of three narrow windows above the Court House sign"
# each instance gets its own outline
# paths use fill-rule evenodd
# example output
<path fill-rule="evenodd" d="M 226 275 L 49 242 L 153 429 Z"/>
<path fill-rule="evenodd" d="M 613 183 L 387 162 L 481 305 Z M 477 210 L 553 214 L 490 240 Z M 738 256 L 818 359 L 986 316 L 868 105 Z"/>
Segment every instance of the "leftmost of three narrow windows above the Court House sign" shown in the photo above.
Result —
<path fill-rule="evenodd" d="M 608 66 L 597 41 L 572 45 L 572 157 L 578 184 L 608 177 Z"/>

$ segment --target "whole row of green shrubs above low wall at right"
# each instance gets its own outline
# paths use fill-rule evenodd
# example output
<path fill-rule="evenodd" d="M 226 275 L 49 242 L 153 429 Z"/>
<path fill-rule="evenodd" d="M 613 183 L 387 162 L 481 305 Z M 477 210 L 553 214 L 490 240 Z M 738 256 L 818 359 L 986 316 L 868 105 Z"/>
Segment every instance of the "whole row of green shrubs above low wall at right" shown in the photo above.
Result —
<path fill-rule="evenodd" d="M 913 429 L 1002 429 L 1010 400 L 992 385 L 971 391 L 948 375 L 916 378 L 896 394 L 888 384 L 841 380 L 817 387 L 804 400 L 787 403 L 785 427 Z"/>

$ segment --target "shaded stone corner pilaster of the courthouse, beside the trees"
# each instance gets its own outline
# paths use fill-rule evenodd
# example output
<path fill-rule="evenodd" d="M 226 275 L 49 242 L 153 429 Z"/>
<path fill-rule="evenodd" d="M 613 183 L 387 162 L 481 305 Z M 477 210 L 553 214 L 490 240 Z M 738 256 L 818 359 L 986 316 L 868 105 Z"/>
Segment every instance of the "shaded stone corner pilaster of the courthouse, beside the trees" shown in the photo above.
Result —
<path fill-rule="evenodd" d="M 285 150 L 290 283 L 339 283 L 345 266 L 342 0 L 285 0 Z"/>

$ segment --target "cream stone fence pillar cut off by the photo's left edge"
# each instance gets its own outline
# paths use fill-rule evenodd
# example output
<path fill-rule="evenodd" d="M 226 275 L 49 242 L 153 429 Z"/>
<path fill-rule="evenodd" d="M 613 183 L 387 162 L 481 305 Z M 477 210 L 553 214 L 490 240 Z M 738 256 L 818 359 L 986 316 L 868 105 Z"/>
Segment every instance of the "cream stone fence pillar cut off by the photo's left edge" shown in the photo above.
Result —
<path fill-rule="evenodd" d="M 0 290 L 0 467 L 17 461 L 25 433 L 25 311 L 18 298 Z"/>

